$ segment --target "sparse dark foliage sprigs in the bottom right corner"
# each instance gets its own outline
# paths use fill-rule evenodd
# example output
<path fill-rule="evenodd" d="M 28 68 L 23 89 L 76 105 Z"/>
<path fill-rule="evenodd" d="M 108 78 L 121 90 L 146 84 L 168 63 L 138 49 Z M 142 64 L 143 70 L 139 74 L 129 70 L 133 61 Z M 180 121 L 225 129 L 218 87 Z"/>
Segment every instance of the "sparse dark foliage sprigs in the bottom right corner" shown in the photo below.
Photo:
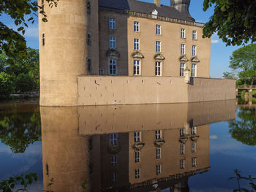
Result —
<path fill-rule="evenodd" d="M 233 191 L 245 191 L 245 192 L 253 192 L 256 190 L 256 184 L 254 183 L 254 180 L 256 180 L 256 178 L 253 178 L 251 175 L 249 175 L 248 177 L 243 177 L 241 176 L 241 172 L 238 171 L 237 169 L 234 170 L 234 173 L 236 174 L 235 177 L 230 177 L 228 180 L 236 180 L 238 183 L 238 188 L 234 189 Z M 249 187 L 251 189 L 246 189 L 246 188 L 241 188 L 241 180 L 246 180 L 249 182 Z"/>

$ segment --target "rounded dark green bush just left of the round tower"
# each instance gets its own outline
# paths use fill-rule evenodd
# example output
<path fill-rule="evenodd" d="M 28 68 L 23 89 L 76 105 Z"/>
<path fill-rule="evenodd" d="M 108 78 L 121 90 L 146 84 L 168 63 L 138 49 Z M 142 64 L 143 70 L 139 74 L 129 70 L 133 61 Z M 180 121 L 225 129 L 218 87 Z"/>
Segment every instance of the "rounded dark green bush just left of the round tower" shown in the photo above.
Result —
<path fill-rule="evenodd" d="M 15 81 L 15 88 L 17 92 L 33 91 L 33 79 L 29 74 L 19 74 Z"/>

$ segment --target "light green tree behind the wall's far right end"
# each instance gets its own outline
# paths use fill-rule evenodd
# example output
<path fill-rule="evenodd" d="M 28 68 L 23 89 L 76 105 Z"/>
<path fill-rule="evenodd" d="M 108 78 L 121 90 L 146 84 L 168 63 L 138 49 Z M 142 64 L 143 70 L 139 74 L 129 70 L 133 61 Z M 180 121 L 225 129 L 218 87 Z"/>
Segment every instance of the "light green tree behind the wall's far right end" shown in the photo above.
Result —
<path fill-rule="evenodd" d="M 237 71 L 240 80 L 250 81 L 251 85 L 256 80 L 256 44 L 246 45 L 235 50 L 230 56 L 230 69 Z"/>

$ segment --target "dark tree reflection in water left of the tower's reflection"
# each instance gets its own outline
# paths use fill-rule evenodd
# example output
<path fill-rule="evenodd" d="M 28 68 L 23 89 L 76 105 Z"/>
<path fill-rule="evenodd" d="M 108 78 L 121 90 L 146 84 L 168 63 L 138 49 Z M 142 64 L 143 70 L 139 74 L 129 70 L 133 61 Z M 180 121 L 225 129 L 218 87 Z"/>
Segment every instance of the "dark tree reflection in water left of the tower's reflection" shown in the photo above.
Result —
<path fill-rule="evenodd" d="M 13 153 L 24 153 L 26 147 L 41 140 L 39 107 L 33 112 L 0 114 L 0 140 Z"/>

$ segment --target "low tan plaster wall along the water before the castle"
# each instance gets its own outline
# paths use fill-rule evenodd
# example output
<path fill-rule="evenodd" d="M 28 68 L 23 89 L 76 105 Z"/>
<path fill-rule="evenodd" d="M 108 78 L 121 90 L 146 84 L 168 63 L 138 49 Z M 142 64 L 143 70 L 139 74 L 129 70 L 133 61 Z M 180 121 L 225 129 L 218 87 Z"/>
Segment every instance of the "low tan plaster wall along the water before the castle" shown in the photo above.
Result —
<path fill-rule="evenodd" d="M 157 104 L 236 99 L 236 80 L 184 77 L 78 77 L 78 105 Z"/>

